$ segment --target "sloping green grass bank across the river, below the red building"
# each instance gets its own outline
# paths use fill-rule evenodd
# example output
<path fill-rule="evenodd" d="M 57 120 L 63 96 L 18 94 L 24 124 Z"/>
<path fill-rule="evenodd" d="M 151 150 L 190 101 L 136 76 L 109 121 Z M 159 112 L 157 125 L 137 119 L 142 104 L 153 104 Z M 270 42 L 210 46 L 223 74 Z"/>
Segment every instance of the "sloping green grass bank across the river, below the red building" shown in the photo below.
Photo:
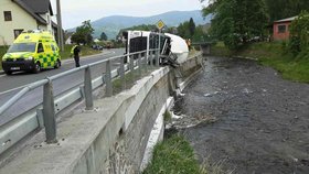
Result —
<path fill-rule="evenodd" d="M 212 48 L 212 54 L 253 57 L 258 59 L 262 65 L 278 70 L 285 79 L 309 83 L 309 51 L 294 56 L 283 45 L 283 42 L 253 43 L 241 51 L 231 52 L 224 44 L 219 43 Z"/>

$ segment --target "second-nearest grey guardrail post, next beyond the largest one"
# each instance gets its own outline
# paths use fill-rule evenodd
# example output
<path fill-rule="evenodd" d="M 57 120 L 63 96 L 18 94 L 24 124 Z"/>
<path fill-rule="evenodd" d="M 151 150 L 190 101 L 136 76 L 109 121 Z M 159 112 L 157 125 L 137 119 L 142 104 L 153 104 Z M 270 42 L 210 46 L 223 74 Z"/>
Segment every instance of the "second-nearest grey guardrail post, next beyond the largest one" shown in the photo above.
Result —
<path fill-rule="evenodd" d="M 89 65 L 85 68 L 84 91 L 85 91 L 86 110 L 93 110 L 94 109 L 93 84 L 92 84 L 92 72 Z"/>

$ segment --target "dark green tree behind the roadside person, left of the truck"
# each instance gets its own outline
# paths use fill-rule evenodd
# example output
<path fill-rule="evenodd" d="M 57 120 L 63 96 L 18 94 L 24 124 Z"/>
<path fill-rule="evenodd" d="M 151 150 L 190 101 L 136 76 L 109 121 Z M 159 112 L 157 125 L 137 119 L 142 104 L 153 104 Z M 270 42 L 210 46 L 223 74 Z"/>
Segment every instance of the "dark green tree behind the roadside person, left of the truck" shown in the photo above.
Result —
<path fill-rule="evenodd" d="M 94 29 L 90 24 L 90 20 L 84 21 L 83 25 L 76 28 L 76 32 L 72 35 L 72 41 L 78 44 L 92 44 Z"/>

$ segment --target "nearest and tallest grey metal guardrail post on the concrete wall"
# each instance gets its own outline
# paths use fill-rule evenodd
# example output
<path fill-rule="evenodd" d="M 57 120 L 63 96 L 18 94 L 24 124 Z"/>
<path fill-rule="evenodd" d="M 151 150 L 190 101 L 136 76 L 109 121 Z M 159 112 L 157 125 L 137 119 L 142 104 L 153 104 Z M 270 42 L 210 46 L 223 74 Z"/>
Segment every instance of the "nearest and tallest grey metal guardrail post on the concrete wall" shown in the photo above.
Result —
<path fill-rule="evenodd" d="M 46 143 L 56 143 L 56 118 L 53 85 L 51 79 L 44 85 L 43 91 L 43 119 L 45 127 Z"/>

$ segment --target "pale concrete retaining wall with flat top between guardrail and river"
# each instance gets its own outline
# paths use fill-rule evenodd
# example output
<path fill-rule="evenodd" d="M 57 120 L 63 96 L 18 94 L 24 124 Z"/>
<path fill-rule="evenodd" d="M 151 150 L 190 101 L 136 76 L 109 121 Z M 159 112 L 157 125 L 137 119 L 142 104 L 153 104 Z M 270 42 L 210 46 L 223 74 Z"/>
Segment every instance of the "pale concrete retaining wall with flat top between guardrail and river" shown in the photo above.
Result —
<path fill-rule="evenodd" d="M 199 58 L 201 55 L 181 69 L 199 69 Z M 97 100 L 94 111 L 75 115 L 57 124 L 57 144 L 45 144 L 41 131 L 0 173 L 138 173 L 150 132 L 158 117 L 162 117 L 159 112 L 175 88 L 175 79 L 179 78 L 173 70 L 161 67 L 130 90 Z M 163 124 L 160 127 L 156 129 L 163 132 Z"/>

